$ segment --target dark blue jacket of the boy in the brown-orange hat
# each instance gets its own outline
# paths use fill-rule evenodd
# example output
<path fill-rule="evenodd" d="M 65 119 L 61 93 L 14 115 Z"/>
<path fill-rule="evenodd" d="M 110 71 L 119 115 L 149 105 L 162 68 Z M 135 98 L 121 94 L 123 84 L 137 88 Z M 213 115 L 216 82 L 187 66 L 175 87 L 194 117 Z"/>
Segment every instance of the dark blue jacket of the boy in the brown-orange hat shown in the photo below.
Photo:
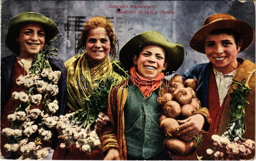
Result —
<path fill-rule="evenodd" d="M 237 61 L 242 64 L 244 62 L 241 58 L 236 58 Z M 189 72 L 182 73 L 181 76 L 186 79 L 193 79 L 196 78 L 198 81 L 198 86 L 196 89 L 196 97 L 201 102 L 201 107 L 209 108 L 208 106 L 208 86 L 209 86 L 209 79 L 210 73 L 212 69 L 212 63 L 204 63 L 204 64 L 197 64 L 193 66 Z"/>

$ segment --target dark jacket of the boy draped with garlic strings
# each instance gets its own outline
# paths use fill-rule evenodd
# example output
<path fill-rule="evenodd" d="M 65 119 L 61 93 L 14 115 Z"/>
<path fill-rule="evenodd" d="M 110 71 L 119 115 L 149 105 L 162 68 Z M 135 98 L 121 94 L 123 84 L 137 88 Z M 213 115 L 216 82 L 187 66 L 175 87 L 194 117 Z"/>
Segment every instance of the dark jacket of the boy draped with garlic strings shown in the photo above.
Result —
<path fill-rule="evenodd" d="M 12 81 L 12 71 L 14 68 L 14 63 L 16 61 L 16 56 L 9 56 L 1 58 L 1 116 L 4 111 L 4 107 L 8 102 L 8 97 L 10 96 L 11 81 Z M 65 107 L 67 102 L 67 92 L 66 92 L 66 80 L 67 74 L 64 66 L 64 62 L 58 58 L 48 58 L 48 61 L 52 67 L 53 71 L 60 71 L 60 80 L 58 81 L 59 93 L 56 96 L 59 110 L 55 113 L 56 116 L 65 113 Z"/>

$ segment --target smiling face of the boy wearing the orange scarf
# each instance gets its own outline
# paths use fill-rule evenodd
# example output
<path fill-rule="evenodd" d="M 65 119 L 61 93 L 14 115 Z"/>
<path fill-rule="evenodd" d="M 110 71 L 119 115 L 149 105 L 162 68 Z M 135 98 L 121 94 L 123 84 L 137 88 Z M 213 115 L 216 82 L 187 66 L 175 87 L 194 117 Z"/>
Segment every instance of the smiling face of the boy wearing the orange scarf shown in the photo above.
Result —
<path fill-rule="evenodd" d="M 133 63 L 137 65 L 137 72 L 141 76 L 152 78 L 166 69 L 165 51 L 162 47 L 149 45 L 142 48 L 139 57 L 133 56 Z"/>

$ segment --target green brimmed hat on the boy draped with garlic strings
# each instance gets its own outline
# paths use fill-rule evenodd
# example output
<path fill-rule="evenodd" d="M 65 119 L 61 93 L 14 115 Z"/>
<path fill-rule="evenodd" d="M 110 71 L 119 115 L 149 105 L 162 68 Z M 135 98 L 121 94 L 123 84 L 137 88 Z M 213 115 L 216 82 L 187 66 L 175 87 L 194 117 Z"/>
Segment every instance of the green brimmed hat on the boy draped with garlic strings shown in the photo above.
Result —
<path fill-rule="evenodd" d="M 15 40 L 15 36 L 17 36 L 15 34 L 18 34 L 20 27 L 27 23 L 40 23 L 44 26 L 46 43 L 59 32 L 57 25 L 51 19 L 40 13 L 26 12 L 14 16 L 8 22 L 5 44 L 12 52 L 16 54 L 20 54 L 18 53 L 20 51 L 20 45 Z"/>

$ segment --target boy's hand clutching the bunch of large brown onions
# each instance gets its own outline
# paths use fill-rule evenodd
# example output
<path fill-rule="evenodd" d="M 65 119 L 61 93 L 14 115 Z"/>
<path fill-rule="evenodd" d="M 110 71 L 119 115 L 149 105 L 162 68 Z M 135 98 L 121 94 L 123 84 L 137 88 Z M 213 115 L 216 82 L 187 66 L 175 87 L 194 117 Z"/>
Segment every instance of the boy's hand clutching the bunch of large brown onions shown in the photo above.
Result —
<path fill-rule="evenodd" d="M 188 117 L 184 120 L 178 120 L 180 124 L 180 135 L 187 135 L 187 137 L 191 137 L 194 135 L 198 135 L 204 125 L 204 117 L 201 114 L 196 114 Z"/>

